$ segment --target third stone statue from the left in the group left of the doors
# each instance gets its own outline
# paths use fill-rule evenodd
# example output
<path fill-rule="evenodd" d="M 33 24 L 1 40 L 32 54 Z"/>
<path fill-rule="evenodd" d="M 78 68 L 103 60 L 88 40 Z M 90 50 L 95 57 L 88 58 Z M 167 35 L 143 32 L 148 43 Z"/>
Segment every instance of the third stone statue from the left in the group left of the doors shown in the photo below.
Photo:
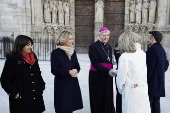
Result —
<path fill-rule="evenodd" d="M 58 22 L 64 24 L 64 9 L 61 1 L 58 2 Z"/>

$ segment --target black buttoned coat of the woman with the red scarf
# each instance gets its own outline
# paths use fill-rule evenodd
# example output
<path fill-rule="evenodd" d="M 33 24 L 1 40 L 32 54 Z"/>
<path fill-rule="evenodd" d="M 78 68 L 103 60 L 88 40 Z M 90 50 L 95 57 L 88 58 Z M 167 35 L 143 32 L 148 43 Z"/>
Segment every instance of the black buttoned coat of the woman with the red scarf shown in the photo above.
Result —
<path fill-rule="evenodd" d="M 37 59 L 31 66 L 17 55 L 7 56 L 1 75 L 1 85 L 9 95 L 10 113 L 45 111 L 42 97 L 45 82 Z M 14 99 L 18 93 L 20 97 Z"/>

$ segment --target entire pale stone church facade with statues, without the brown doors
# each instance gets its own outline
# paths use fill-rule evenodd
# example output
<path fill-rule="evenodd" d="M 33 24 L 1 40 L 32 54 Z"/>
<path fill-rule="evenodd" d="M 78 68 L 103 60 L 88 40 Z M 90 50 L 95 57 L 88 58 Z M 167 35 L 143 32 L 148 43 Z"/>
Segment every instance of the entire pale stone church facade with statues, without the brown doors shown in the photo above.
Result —
<path fill-rule="evenodd" d="M 94 41 L 104 25 L 104 3 L 94 0 Z M 50 39 L 68 30 L 75 37 L 75 12 L 75 0 L 0 0 L 0 36 L 25 34 Z M 162 32 L 162 45 L 170 59 L 169 0 L 125 0 L 124 28 L 141 35 L 144 50 L 148 31 Z"/>

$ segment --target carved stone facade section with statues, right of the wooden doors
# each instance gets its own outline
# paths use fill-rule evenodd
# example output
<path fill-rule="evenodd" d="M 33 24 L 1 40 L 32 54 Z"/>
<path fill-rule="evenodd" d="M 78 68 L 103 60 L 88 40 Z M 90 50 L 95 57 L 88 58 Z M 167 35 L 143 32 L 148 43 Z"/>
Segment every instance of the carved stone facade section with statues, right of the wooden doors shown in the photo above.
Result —
<path fill-rule="evenodd" d="M 152 30 L 160 31 L 163 34 L 162 45 L 167 57 L 170 60 L 170 1 L 169 0 L 125 0 L 125 29 L 138 33 L 143 39 L 143 50 L 147 50 L 148 32 Z M 139 3 L 143 2 L 142 8 Z M 134 6 L 135 4 L 135 6 Z M 130 8 L 135 7 L 135 20 L 131 22 Z M 140 15 L 137 14 L 140 10 Z M 146 14 L 147 13 L 147 14 Z M 145 15 L 146 14 L 146 15 Z M 141 21 L 137 20 L 141 17 Z"/>

